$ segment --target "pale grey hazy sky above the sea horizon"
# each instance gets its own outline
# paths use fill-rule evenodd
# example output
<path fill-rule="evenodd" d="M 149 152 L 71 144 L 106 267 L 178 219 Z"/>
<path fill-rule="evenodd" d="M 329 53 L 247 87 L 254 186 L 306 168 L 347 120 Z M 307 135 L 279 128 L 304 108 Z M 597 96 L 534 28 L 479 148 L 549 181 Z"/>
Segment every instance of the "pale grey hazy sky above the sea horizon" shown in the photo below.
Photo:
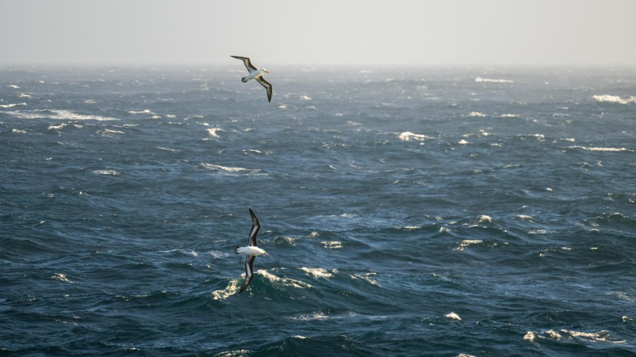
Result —
<path fill-rule="evenodd" d="M 0 64 L 636 65 L 634 0 L 0 0 Z"/>

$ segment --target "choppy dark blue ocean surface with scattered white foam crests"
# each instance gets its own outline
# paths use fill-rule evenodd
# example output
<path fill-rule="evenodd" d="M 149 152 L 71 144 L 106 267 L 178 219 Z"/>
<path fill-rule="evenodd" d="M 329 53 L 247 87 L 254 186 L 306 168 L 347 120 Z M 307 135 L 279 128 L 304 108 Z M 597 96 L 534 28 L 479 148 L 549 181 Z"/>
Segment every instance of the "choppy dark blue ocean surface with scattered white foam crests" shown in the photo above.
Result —
<path fill-rule="evenodd" d="M 0 355 L 636 355 L 636 68 L 268 69 L 0 67 Z"/>

